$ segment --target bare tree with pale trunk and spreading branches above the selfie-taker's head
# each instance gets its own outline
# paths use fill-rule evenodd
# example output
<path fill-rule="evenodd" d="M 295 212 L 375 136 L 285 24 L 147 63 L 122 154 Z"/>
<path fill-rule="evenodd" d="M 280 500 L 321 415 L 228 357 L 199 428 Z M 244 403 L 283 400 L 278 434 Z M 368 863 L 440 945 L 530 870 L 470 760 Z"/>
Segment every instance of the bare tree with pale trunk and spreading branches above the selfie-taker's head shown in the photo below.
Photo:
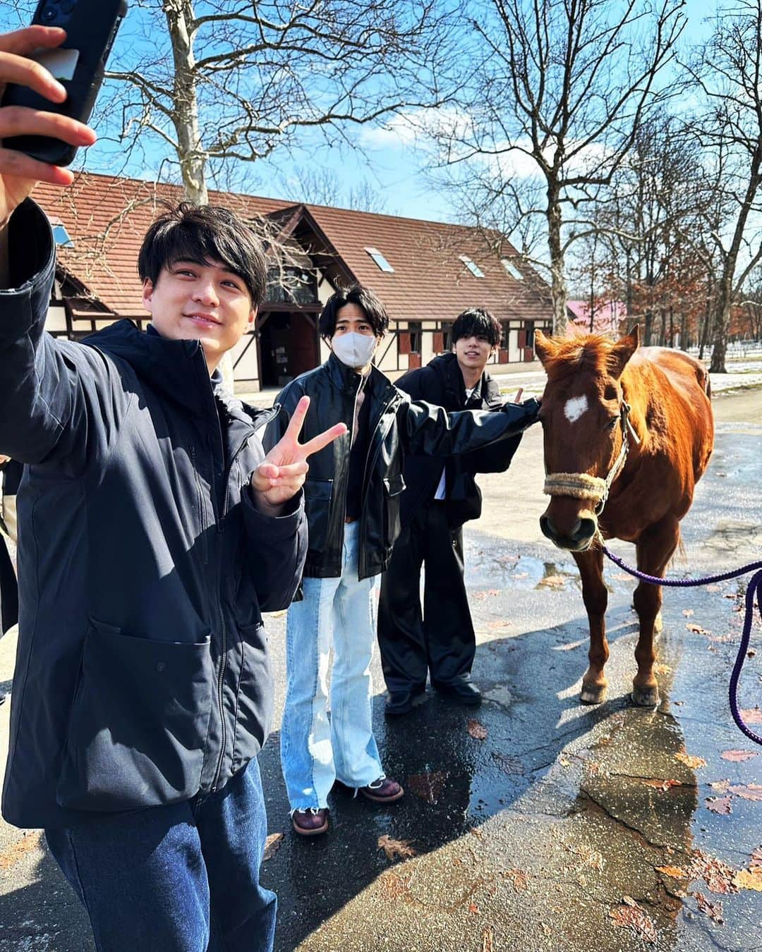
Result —
<path fill-rule="evenodd" d="M 445 101 L 453 16 L 444 0 L 133 0 L 111 53 L 96 128 L 120 156 L 182 181 L 192 201 L 230 169 L 310 130 Z M 17 26 L 33 0 L 10 0 Z M 440 9 L 442 8 L 442 9 Z M 156 159 L 156 155 L 161 157 Z M 158 168 L 157 168 L 158 167 Z"/>

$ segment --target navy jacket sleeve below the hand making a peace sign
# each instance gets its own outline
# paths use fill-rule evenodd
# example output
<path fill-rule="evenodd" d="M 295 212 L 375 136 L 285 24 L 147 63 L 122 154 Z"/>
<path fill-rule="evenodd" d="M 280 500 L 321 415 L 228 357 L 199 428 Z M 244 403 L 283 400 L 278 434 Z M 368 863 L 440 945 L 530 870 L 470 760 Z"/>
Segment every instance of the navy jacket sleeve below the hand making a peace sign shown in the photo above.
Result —
<path fill-rule="evenodd" d="M 270 516 L 255 506 L 251 488 L 242 494 L 247 561 L 261 611 L 288 608 L 302 580 L 307 558 L 304 493 L 294 496 L 288 511 Z"/>

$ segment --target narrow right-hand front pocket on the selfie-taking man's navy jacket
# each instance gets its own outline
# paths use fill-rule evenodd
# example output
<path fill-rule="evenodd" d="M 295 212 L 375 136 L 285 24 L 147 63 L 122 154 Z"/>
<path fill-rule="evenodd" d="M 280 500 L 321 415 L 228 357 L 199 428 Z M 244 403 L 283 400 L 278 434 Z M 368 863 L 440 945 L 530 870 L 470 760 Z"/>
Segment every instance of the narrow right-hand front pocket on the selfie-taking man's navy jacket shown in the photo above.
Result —
<path fill-rule="evenodd" d="M 241 677 L 235 719 L 232 772 L 256 757 L 272 724 L 273 684 L 265 626 L 241 625 Z"/>

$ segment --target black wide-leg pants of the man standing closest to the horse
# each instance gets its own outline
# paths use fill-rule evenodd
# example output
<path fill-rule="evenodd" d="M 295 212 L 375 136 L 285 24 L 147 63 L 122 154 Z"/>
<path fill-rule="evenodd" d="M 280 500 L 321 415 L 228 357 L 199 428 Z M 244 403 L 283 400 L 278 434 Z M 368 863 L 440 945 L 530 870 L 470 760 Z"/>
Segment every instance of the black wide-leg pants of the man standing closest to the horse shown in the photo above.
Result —
<path fill-rule="evenodd" d="M 394 544 L 381 576 L 378 645 L 390 691 L 422 687 L 427 670 L 435 684 L 471 671 L 476 640 L 463 579 L 463 530 L 448 526 L 443 502 L 423 506 Z"/>

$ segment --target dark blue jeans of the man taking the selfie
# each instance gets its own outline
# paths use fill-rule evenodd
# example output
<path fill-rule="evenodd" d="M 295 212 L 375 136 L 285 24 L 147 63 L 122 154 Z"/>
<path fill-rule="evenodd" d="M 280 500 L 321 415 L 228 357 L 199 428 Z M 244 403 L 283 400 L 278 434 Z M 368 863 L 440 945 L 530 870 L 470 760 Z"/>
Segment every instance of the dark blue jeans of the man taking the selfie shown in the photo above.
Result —
<path fill-rule="evenodd" d="M 217 793 L 45 831 L 99 952 L 270 952 L 277 899 L 259 884 L 259 764 Z"/>

